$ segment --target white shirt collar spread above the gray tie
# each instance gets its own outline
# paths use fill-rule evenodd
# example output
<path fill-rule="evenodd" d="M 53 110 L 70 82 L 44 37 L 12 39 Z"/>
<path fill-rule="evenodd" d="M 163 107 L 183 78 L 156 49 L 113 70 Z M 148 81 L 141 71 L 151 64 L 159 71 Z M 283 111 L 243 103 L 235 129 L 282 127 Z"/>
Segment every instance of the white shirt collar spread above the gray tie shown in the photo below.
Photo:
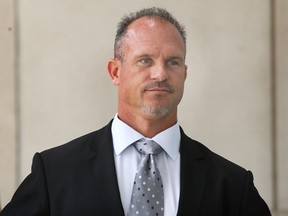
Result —
<path fill-rule="evenodd" d="M 113 119 L 111 131 L 116 155 L 121 154 L 122 151 L 135 141 L 145 138 L 142 134 L 121 121 L 117 114 Z M 172 160 L 176 160 L 180 147 L 180 128 L 178 122 L 154 136 L 152 140 L 157 142 Z"/>

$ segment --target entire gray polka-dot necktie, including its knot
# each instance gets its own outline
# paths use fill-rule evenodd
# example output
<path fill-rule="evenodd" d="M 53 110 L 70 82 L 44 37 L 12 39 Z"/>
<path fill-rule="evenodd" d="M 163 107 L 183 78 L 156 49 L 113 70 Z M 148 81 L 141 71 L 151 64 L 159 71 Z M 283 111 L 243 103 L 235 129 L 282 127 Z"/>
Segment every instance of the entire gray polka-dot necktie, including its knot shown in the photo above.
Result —
<path fill-rule="evenodd" d="M 142 154 L 142 159 L 135 175 L 129 216 L 163 216 L 163 185 L 154 158 L 163 149 L 153 140 L 145 139 L 137 141 L 134 146 Z"/>

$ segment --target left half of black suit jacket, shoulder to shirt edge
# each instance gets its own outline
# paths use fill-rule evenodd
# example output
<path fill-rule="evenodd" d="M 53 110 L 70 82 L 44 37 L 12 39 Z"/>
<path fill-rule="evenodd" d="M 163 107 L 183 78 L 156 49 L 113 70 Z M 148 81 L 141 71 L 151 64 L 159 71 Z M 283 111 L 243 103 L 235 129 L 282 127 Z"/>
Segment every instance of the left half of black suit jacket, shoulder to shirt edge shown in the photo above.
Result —
<path fill-rule="evenodd" d="M 111 122 L 67 144 L 36 153 L 31 174 L 2 213 L 3 216 L 124 215 Z"/>

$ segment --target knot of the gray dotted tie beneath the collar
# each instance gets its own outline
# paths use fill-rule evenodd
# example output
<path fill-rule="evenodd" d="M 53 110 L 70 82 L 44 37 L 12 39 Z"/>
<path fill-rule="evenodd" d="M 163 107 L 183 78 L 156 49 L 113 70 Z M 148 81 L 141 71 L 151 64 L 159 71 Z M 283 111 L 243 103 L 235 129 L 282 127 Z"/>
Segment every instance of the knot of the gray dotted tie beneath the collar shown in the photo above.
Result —
<path fill-rule="evenodd" d="M 134 147 L 141 154 L 153 154 L 158 155 L 163 149 L 161 146 L 153 140 L 140 139 L 134 143 Z"/>

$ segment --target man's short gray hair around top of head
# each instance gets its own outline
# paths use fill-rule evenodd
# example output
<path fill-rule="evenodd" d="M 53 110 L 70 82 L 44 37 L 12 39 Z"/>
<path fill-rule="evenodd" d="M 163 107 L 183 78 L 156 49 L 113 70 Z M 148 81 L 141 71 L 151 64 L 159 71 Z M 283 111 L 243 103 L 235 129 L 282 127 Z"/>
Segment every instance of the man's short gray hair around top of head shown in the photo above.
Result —
<path fill-rule="evenodd" d="M 163 8 L 157 8 L 157 7 L 145 8 L 137 12 L 123 16 L 122 20 L 119 22 L 114 42 L 114 58 L 117 58 L 121 61 L 123 60 L 124 58 L 123 39 L 126 36 L 127 29 L 132 22 L 141 17 L 151 17 L 171 23 L 179 31 L 186 46 L 185 28 L 176 20 L 174 16 L 172 16 L 171 13 L 169 13 L 166 9 Z"/>

